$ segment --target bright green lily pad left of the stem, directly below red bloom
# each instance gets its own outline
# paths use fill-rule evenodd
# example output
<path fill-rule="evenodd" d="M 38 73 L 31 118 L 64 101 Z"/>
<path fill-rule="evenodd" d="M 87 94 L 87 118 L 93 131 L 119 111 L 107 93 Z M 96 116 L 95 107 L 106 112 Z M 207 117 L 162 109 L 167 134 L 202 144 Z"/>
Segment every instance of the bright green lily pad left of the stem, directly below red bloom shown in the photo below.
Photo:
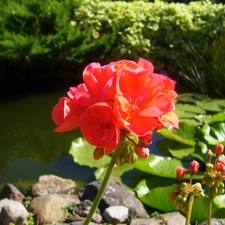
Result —
<path fill-rule="evenodd" d="M 75 163 L 81 166 L 103 167 L 110 161 L 110 156 L 105 155 L 99 160 L 93 158 L 93 152 L 95 147 L 90 145 L 83 137 L 73 140 L 69 153 L 73 156 Z"/>

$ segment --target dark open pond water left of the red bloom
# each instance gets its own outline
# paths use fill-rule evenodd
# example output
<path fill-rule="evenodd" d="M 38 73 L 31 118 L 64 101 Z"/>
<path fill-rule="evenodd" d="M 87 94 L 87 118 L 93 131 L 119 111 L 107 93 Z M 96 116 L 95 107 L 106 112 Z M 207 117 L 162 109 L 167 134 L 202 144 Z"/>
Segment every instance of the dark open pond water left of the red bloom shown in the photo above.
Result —
<path fill-rule="evenodd" d="M 78 186 L 94 180 L 94 170 L 74 164 L 68 154 L 75 131 L 53 131 L 51 111 L 66 91 L 0 101 L 0 188 L 13 183 L 25 189 L 43 174 L 73 179 Z"/>

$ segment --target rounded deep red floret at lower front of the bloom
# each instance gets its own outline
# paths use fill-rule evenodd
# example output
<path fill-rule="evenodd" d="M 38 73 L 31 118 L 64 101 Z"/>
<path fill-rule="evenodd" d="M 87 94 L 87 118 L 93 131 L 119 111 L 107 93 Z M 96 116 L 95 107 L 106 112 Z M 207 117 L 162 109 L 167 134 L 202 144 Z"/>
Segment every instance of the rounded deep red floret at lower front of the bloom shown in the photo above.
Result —
<path fill-rule="evenodd" d="M 120 128 L 112 107 L 107 103 L 96 103 L 87 108 L 79 118 L 84 138 L 105 154 L 112 152 L 120 140 Z"/>

